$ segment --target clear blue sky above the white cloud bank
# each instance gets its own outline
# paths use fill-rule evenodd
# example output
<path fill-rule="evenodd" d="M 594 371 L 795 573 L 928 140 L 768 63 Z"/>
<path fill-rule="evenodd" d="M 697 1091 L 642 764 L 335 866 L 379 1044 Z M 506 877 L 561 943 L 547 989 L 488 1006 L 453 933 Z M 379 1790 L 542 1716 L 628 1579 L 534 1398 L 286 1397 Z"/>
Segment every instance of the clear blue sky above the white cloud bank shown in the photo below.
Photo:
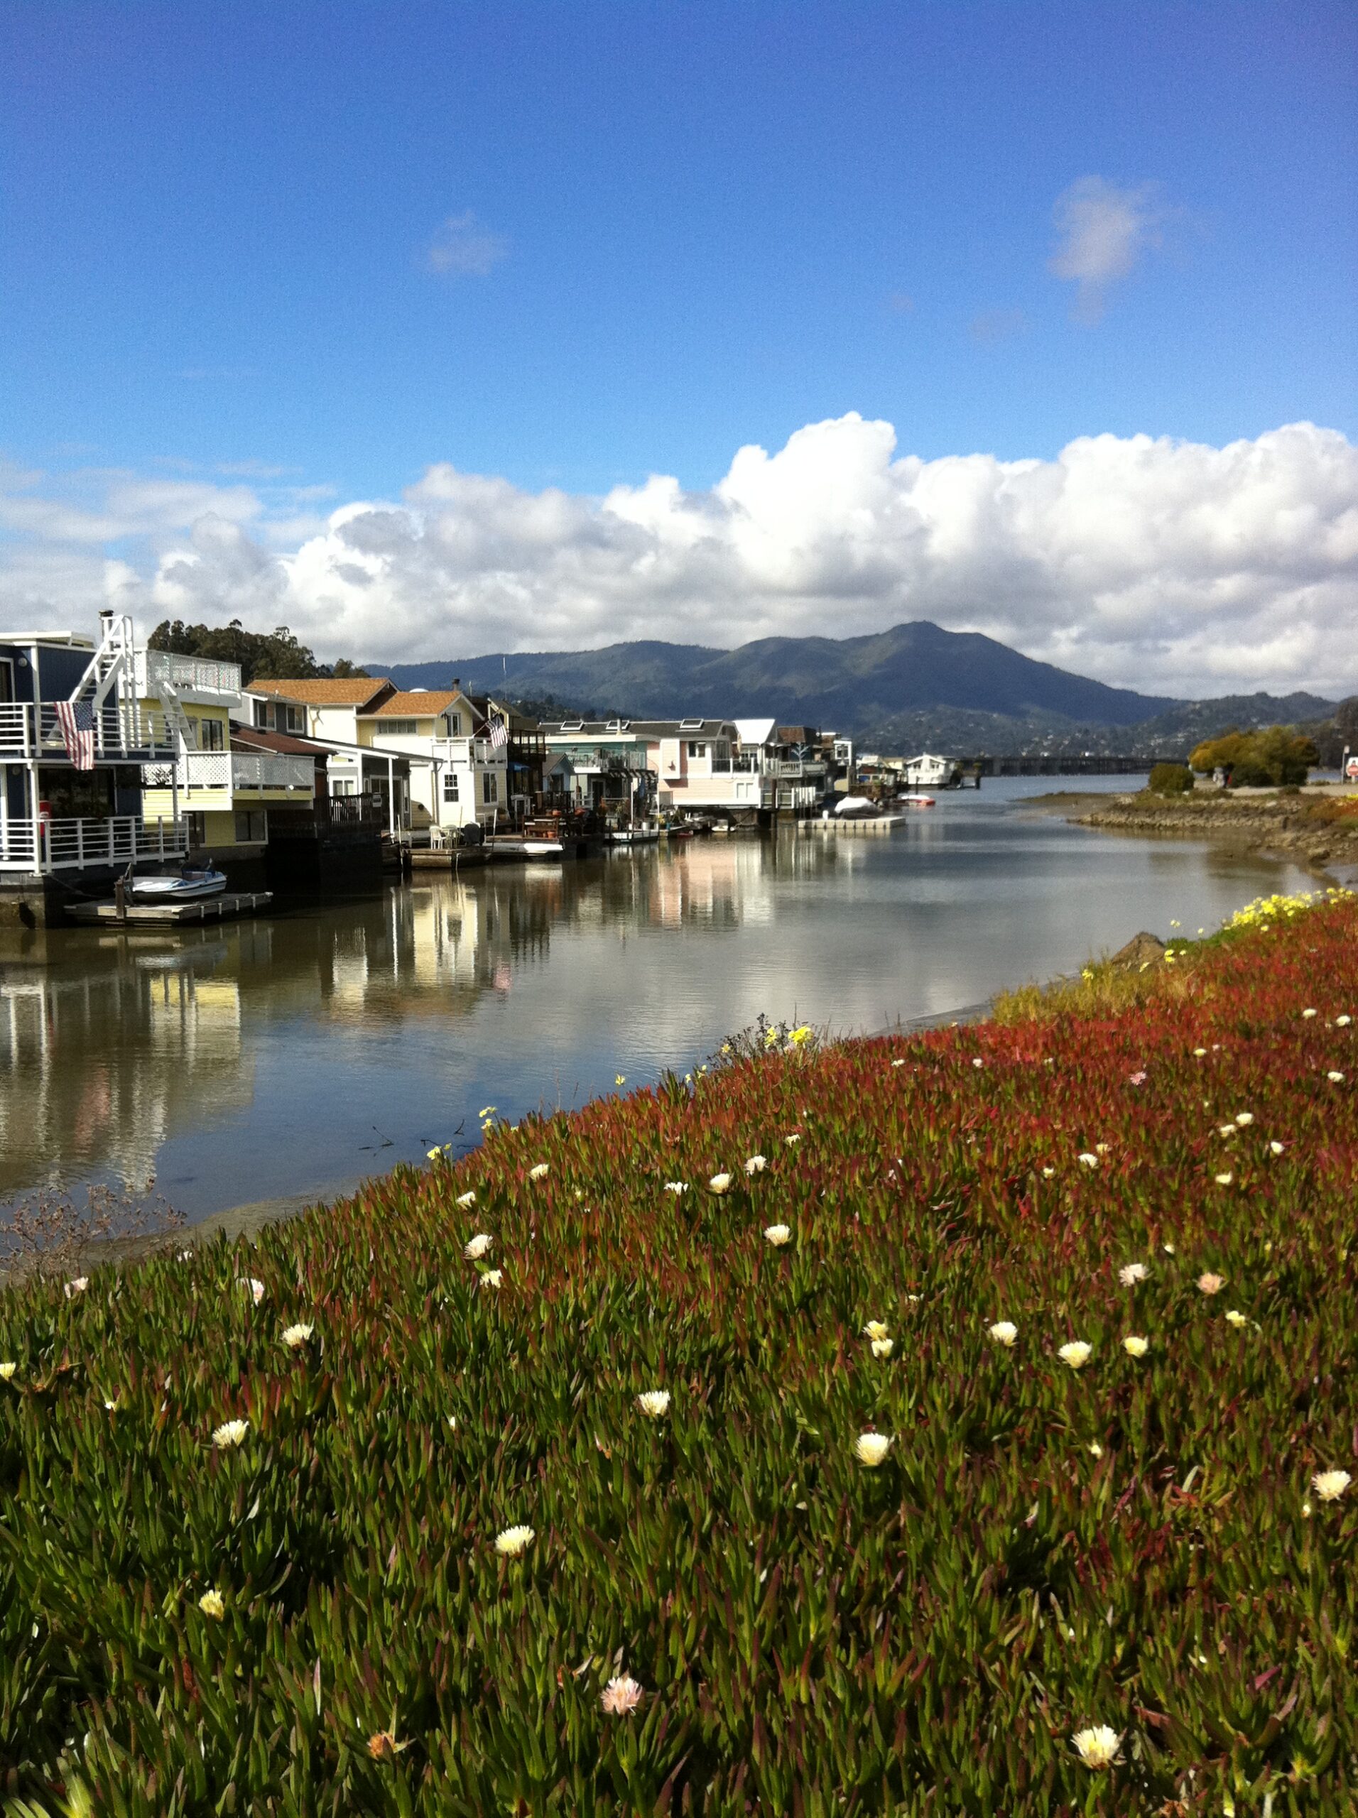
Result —
<path fill-rule="evenodd" d="M 845 413 L 1353 440 L 1356 64 L 1351 5 L 11 0 L 0 449 L 87 516 L 5 527 L 55 574 L 102 513 L 151 585 L 189 505 L 109 469 L 282 549 L 433 464 L 700 491 Z"/>

